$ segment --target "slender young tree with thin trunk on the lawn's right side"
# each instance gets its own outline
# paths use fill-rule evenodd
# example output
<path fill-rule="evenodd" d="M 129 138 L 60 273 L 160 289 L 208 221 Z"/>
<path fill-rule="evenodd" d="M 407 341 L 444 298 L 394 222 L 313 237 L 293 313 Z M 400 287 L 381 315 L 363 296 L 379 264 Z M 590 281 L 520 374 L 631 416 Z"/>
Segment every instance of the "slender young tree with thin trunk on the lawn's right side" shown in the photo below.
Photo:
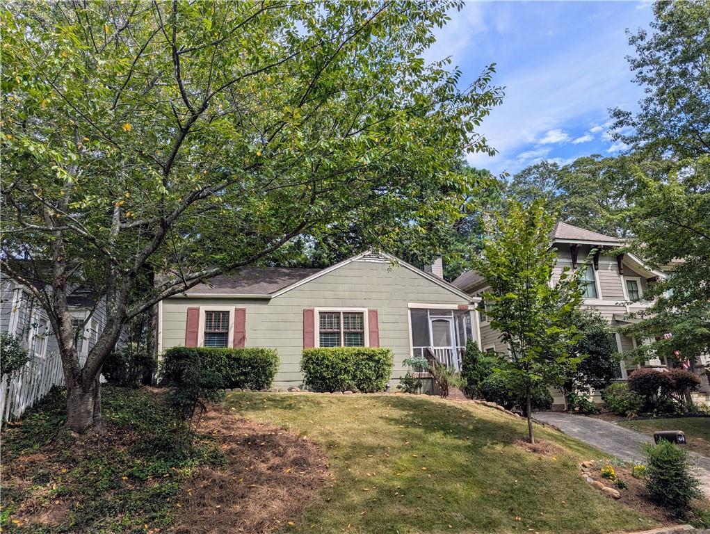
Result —
<path fill-rule="evenodd" d="M 533 389 L 561 386 L 581 360 L 571 353 L 578 337 L 570 320 L 581 303 L 579 273 L 564 268 L 552 281 L 553 226 L 544 202 L 529 207 L 513 202 L 506 217 L 487 220 L 484 249 L 473 262 L 491 285 L 484 294 L 486 315 L 510 347 L 510 363 L 501 372 L 524 393 L 531 443 Z"/>

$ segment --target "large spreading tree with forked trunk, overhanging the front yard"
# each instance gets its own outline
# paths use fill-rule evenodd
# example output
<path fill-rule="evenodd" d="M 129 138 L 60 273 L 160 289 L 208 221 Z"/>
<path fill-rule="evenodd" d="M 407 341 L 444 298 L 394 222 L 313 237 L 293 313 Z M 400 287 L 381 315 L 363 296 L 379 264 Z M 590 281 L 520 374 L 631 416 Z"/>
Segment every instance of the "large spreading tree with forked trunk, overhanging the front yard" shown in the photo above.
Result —
<path fill-rule="evenodd" d="M 457 216 L 471 180 L 451 163 L 492 151 L 476 126 L 502 92 L 492 66 L 461 90 L 447 60 L 422 60 L 452 6 L 1 11 L 1 265 L 48 312 L 72 430 L 101 426 L 104 359 L 159 300 L 266 262 L 297 236 L 351 224 L 388 249 Z M 67 305 L 77 285 L 107 305 L 84 366 Z"/>

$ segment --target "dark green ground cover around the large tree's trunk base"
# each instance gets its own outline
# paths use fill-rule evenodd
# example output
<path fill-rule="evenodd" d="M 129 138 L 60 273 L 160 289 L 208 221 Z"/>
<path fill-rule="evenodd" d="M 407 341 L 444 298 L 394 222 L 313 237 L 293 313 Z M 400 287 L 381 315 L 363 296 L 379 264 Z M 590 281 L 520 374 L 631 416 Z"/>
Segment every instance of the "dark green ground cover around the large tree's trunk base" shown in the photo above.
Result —
<path fill-rule="evenodd" d="M 60 391 L 50 393 L 23 420 L 4 425 L 4 531 L 165 530 L 172 523 L 180 483 L 191 469 L 224 462 L 211 439 L 201 436 L 191 444 L 185 432 L 176 432 L 157 393 L 104 386 L 102 408 L 107 432 L 98 440 L 75 440 L 64 430 Z"/>

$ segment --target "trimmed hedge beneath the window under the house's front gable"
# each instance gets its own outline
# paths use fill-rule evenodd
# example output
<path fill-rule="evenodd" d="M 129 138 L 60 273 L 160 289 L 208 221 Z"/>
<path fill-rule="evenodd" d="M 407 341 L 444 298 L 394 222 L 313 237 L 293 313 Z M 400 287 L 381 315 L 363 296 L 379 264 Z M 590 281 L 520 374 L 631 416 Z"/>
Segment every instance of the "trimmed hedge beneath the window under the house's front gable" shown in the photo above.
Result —
<path fill-rule="evenodd" d="M 311 391 L 385 391 L 394 356 L 376 347 L 304 349 L 301 371 Z"/>

